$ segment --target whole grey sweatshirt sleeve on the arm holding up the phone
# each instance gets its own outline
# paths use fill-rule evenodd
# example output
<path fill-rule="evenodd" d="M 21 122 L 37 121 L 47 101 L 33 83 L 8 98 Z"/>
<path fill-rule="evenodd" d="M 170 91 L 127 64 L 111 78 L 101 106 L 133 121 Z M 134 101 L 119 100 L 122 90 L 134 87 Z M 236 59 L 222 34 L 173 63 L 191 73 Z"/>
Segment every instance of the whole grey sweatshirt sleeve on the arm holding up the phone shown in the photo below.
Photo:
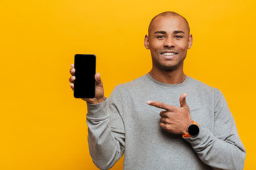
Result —
<path fill-rule="evenodd" d="M 99 169 L 110 169 L 124 154 L 122 98 L 114 88 L 102 103 L 87 103 L 88 144 L 92 161 Z"/>

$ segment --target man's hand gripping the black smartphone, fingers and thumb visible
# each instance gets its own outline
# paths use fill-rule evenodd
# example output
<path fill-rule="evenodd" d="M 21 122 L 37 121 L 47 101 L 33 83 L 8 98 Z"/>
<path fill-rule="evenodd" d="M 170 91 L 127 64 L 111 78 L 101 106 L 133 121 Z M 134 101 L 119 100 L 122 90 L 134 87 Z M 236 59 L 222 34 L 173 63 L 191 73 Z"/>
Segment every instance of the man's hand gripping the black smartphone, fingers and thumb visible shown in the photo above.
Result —
<path fill-rule="evenodd" d="M 74 90 L 74 81 L 75 81 L 75 68 L 74 64 L 71 64 L 70 74 L 72 77 L 70 77 L 70 87 Z M 82 100 L 86 101 L 87 103 L 97 104 L 101 103 L 102 101 L 105 101 L 104 97 L 104 89 L 103 89 L 103 83 L 100 79 L 100 73 L 95 74 L 95 98 L 82 98 Z"/>

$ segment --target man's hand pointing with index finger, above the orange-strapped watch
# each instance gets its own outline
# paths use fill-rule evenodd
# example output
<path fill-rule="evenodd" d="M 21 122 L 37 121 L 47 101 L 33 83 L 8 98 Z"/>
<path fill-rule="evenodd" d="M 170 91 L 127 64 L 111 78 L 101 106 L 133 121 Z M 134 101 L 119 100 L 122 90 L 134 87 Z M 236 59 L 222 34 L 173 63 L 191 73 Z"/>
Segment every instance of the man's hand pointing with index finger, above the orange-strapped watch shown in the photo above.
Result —
<path fill-rule="evenodd" d="M 189 107 L 186 103 L 186 93 L 181 94 L 180 104 L 181 107 L 167 105 L 159 101 L 147 101 L 151 106 L 157 108 L 165 109 L 166 111 L 161 111 L 159 115 L 160 118 L 160 127 L 174 134 L 186 134 L 188 125 L 193 124 L 191 115 L 189 113 Z"/>

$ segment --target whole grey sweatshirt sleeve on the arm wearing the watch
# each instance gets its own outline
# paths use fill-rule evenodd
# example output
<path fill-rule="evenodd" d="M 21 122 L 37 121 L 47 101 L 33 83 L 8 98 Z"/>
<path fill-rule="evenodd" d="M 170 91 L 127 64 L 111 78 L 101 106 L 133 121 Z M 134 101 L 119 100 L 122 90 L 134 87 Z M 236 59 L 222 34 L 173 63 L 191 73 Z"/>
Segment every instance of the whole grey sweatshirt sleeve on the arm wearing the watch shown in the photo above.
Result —
<path fill-rule="evenodd" d="M 230 113 L 227 101 L 215 89 L 214 130 L 199 125 L 196 137 L 184 138 L 190 142 L 198 157 L 213 169 L 242 170 L 245 163 L 245 148 Z"/>

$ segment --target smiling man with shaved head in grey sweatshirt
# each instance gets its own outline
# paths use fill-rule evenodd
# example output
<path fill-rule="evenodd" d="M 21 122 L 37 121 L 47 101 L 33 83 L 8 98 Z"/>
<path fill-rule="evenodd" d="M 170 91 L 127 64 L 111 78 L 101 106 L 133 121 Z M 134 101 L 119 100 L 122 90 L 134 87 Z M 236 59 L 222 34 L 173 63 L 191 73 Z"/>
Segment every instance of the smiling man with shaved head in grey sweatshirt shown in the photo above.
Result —
<path fill-rule="evenodd" d="M 125 170 L 243 169 L 245 148 L 223 94 L 183 72 L 192 41 L 183 16 L 160 13 L 144 39 L 148 74 L 116 86 L 108 99 L 95 74 L 95 98 L 83 100 L 97 167 L 110 169 L 125 152 Z"/>

